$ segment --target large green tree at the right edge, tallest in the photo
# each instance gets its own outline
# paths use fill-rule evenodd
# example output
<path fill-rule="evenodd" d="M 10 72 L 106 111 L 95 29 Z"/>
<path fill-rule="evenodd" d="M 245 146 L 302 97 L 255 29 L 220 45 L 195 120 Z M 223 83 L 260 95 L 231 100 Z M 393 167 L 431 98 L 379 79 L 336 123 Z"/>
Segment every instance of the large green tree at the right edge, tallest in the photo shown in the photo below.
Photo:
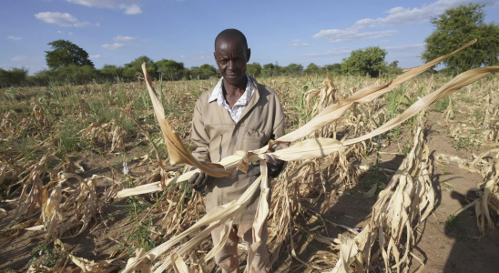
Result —
<path fill-rule="evenodd" d="M 484 24 L 484 5 L 460 5 L 432 19 L 435 30 L 426 39 L 422 59 L 429 62 L 447 55 L 474 38 L 478 41 L 443 61 L 451 74 L 498 64 L 499 25 Z"/>

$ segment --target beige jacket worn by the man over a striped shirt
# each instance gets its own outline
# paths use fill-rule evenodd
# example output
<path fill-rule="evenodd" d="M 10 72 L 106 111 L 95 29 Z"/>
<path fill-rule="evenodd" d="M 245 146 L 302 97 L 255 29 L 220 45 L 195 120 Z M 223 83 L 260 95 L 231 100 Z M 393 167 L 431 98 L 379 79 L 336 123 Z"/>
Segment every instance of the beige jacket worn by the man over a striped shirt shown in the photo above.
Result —
<path fill-rule="evenodd" d="M 267 145 L 270 139 L 284 135 L 284 113 L 280 99 L 269 86 L 258 86 L 244 108 L 238 123 L 217 101 L 208 102 L 213 87 L 199 96 L 192 118 L 192 155 L 200 161 L 218 162 L 238 150 L 254 150 Z M 237 200 L 249 185 L 260 176 L 260 167 L 250 165 L 248 173 L 238 171 L 234 178 L 213 177 L 207 185 L 206 210 Z M 235 224 L 254 221 L 260 192 L 249 203 L 246 213 L 234 220 Z"/>

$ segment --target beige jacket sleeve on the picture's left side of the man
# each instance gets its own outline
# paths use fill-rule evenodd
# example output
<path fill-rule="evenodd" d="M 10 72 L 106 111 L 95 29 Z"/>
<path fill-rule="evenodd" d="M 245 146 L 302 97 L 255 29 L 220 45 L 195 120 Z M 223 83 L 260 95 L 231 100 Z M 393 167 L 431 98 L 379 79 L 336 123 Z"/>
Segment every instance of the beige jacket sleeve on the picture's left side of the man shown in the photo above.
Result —
<path fill-rule="evenodd" d="M 192 156 L 199 161 L 209 160 L 209 135 L 206 131 L 203 116 L 201 115 L 201 100 L 198 99 L 194 107 L 194 115 L 192 117 L 192 130 L 190 139 L 195 147 Z"/>

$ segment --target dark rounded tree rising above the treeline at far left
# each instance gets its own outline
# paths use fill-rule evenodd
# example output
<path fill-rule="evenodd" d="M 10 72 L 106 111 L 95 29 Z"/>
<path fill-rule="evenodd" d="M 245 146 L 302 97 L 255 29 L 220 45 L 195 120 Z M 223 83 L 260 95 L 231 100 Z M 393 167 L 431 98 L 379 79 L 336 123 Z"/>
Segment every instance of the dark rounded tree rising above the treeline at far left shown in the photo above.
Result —
<path fill-rule="evenodd" d="M 46 51 L 46 66 L 56 69 L 64 66 L 92 66 L 94 63 L 88 59 L 87 51 L 66 40 L 56 40 L 48 43 L 52 51 Z"/>

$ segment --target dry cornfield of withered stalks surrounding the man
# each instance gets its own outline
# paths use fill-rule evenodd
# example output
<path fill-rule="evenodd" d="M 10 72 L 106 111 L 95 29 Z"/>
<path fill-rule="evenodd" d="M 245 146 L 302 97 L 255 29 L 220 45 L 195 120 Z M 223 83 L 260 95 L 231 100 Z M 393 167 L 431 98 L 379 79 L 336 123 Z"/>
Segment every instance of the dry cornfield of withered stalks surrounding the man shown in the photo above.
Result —
<path fill-rule="evenodd" d="M 271 181 L 268 147 L 219 165 L 190 157 L 194 103 L 217 79 L 2 89 L 0 270 L 216 272 L 209 231 L 229 228 L 258 187 L 271 203 L 260 197 L 253 228 L 269 217 L 273 271 L 494 268 L 444 238 L 497 238 L 499 67 L 421 75 L 441 60 L 395 78 L 258 78 L 287 116 L 277 143 L 292 143 Z M 230 176 L 258 160 L 245 196 L 209 214 L 182 182 L 185 164 Z"/>

